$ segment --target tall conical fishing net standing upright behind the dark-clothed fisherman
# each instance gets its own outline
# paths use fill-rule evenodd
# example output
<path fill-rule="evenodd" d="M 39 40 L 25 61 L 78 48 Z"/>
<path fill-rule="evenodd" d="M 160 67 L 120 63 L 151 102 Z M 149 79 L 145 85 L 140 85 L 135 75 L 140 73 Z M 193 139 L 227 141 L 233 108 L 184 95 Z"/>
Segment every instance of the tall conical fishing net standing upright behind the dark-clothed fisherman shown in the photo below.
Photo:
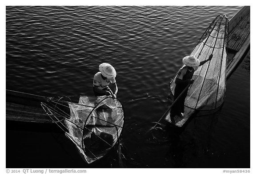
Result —
<path fill-rule="evenodd" d="M 197 110 L 213 110 L 223 104 L 226 89 L 227 42 L 228 19 L 226 15 L 219 15 L 212 21 L 190 54 L 200 62 L 208 59 L 211 54 L 213 58 L 195 71 L 192 78 L 195 81 L 189 87 L 185 106 Z M 176 76 L 170 83 L 172 94 L 176 86 Z"/>

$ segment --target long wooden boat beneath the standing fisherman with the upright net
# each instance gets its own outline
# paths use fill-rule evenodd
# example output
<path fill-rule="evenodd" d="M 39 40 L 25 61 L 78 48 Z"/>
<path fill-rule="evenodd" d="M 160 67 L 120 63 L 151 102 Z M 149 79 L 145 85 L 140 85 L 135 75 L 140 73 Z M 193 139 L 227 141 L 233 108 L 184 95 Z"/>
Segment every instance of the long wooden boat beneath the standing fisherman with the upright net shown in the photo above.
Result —
<path fill-rule="evenodd" d="M 250 47 L 250 6 L 244 6 L 243 8 L 241 8 L 239 12 L 237 12 L 236 15 L 234 15 L 232 19 L 230 19 L 228 26 L 228 45 L 226 45 L 225 50 L 227 52 L 226 79 L 230 77 L 230 75 L 236 69 L 239 62 L 244 58 L 244 55 L 247 53 Z M 197 44 L 197 46 L 198 45 L 199 44 Z M 195 52 L 197 51 L 195 50 L 197 46 L 192 51 L 192 54 L 195 54 Z M 186 98 L 186 100 L 188 100 L 188 97 Z M 208 107 L 211 107 L 211 104 L 208 104 Z M 171 115 L 169 111 L 167 112 L 165 120 L 178 127 L 181 127 L 195 112 L 203 111 L 204 113 L 212 113 L 217 108 L 218 107 L 215 107 L 215 109 L 210 109 L 205 112 L 206 110 L 203 106 L 201 106 L 201 108 L 191 107 L 188 106 L 187 102 L 187 105 L 185 103 L 184 107 L 184 118 L 176 116 L 174 118 L 174 123 L 174 120 L 171 120 Z"/>

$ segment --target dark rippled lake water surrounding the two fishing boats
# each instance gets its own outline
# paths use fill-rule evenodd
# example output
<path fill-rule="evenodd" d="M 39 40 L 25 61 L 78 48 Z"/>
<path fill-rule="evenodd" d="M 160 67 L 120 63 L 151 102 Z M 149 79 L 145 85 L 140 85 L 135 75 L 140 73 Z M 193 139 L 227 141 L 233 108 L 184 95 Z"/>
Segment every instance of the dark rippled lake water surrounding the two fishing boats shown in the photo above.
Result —
<path fill-rule="evenodd" d="M 191 52 L 217 15 L 231 19 L 240 8 L 7 6 L 6 89 L 42 96 L 90 96 L 93 75 L 100 63 L 108 62 L 117 71 L 117 97 L 125 109 L 122 142 L 130 159 L 128 167 L 250 167 L 249 56 L 228 80 L 220 112 L 195 117 L 182 130 L 144 135 L 170 104 L 168 84 L 180 68 L 181 58 Z M 63 147 L 69 142 L 62 134 L 16 131 L 9 124 L 7 128 L 8 135 L 29 139 L 18 141 L 28 156 L 28 163 L 19 164 L 21 167 L 66 167 L 71 157 L 75 167 L 115 167 L 114 161 L 105 163 L 111 154 L 85 165 Z M 38 150 L 42 142 L 37 136 L 56 149 Z M 29 143 L 33 151 L 27 148 Z M 35 152 L 42 154 L 37 158 Z M 17 150 L 7 149 L 8 153 L 14 155 L 12 161 L 21 158 Z M 55 163 L 44 154 L 51 155 Z M 40 162 L 34 163 L 34 159 Z M 18 164 L 7 159 L 8 165 Z"/>

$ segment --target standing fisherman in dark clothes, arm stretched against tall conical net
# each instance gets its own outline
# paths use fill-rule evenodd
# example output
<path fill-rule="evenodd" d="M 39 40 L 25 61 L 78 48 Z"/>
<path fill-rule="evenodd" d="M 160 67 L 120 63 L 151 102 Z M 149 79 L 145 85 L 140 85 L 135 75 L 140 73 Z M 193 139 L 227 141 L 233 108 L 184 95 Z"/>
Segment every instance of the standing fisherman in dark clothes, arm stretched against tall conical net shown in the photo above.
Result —
<path fill-rule="evenodd" d="M 185 66 L 182 66 L 180 68 L 175 83 L 175 89 L 174 89 L 174 101 L 177 97 L 180 96 L 180 93 L 183 92 L 183 90 L 187 87 L 188 84 L 192 84 L 194 80 L 192 79 L 194 72 L 198 69 L 199 66 L 204 65 L 204 63 L 210 61 L 212 59 L 212 54 L 209 56 L 207 60 L 204 60 L 202 62 L 199 61 L 198 58 L 196 58 L 193 55 L 186 56 L 182 59 L 182 62 Z M 182 94 L 182 96 L 179 98 L 178 101 L 172 106 L 171 110 L 171 119 L 172 121 L 175 121 L 173 118 L 174 116 L 180 116 L 181 118 L 184 118 L 184 102 L 185 98 L 187 97 L 188 89 Z"/>

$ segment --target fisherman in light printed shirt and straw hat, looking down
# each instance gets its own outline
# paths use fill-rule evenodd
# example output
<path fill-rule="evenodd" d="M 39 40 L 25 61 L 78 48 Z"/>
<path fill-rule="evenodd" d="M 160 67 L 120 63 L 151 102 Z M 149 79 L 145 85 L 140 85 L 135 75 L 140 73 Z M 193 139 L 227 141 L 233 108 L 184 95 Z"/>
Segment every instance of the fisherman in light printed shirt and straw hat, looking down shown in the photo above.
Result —
<path fill-rule="evenodd" d="M 101 63 L 99 66 L 100 72 L 96 73 L 93 77 L 93 92 L 95 96 L 111 95 L 116 98 L 117 85 L 116 85 L 116 70 L 109 63 Z M 114 93 L 108 87 L 109 83 L 114 85 Z"/>

